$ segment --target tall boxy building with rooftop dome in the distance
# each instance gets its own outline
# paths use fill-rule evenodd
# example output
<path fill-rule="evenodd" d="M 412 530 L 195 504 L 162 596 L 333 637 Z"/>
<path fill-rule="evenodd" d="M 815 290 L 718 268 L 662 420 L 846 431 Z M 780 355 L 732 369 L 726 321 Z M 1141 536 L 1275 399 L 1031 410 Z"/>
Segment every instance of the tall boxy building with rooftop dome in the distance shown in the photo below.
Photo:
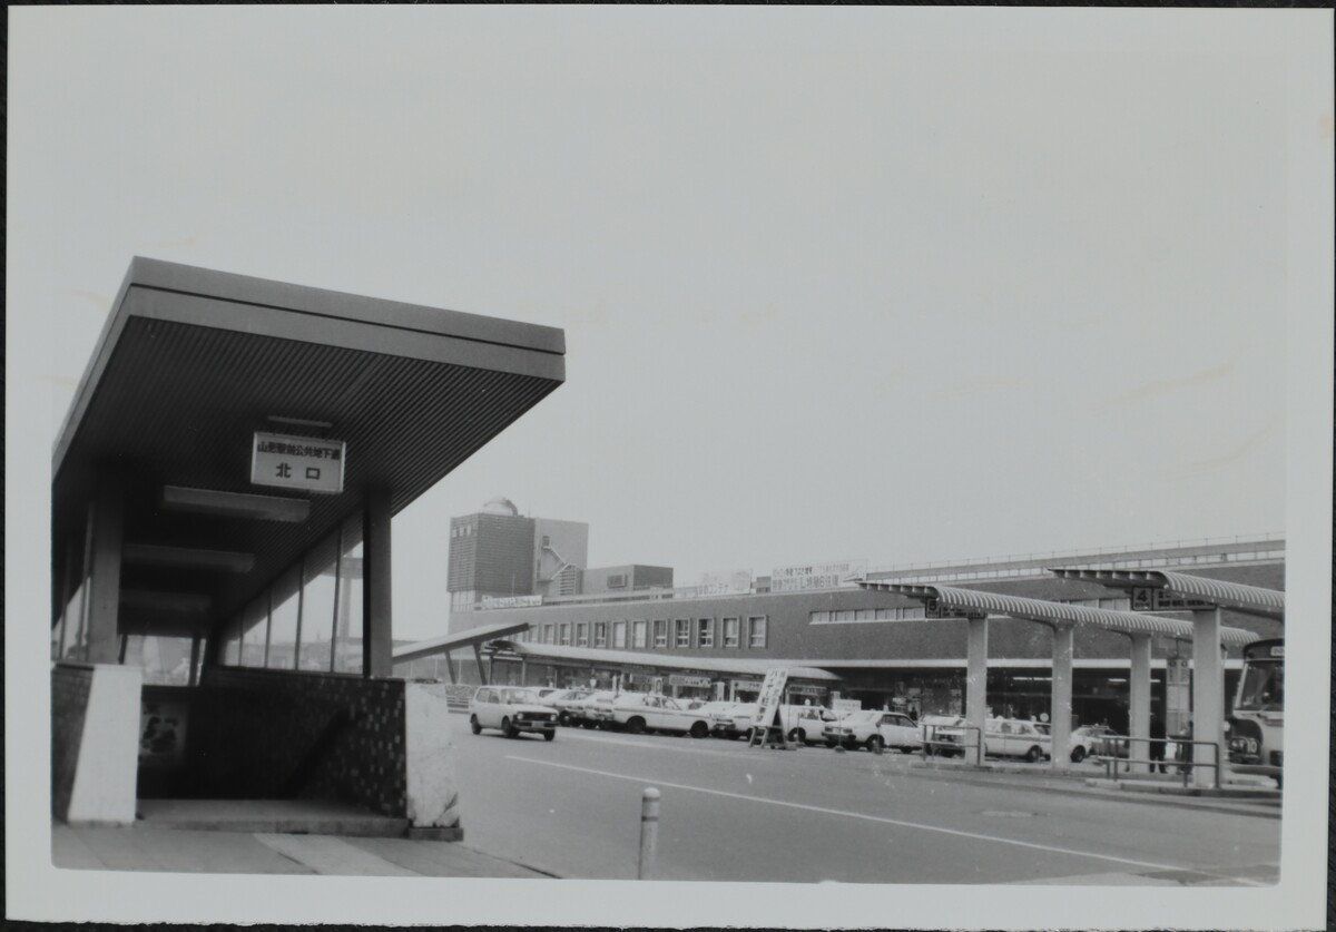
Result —
<path fill-rule="evenodd" d="M 577 596 L 588 554 L 589 525 L 528 518 L 510 499 L 493 498 L 450 518 L 450 614 L 484 598 Z"/>

